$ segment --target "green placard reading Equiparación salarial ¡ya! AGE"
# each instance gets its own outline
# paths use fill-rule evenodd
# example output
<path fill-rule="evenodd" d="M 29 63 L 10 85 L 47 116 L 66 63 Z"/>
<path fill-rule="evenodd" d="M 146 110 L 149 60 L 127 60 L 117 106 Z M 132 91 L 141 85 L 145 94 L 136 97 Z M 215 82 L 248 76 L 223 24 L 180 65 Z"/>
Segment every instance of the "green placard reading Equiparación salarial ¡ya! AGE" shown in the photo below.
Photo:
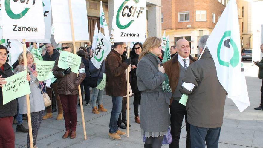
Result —
<path fill-rule="evenodd" d="M 26 94 L 30 94 L 29 83 L 26 80 L 26 71 L 19 72 L 5 79 L 7 82 L 3 85 L 3 105 Z"/>

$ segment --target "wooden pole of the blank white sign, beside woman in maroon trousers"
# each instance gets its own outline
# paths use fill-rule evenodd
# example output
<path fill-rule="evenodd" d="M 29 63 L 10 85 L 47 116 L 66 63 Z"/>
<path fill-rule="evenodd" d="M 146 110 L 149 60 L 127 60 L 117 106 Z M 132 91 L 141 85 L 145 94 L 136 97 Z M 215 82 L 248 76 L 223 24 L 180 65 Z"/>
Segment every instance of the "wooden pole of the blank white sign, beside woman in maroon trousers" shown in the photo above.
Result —
<path fill-rule="evenodd" d="M 71 25 L 71 33 L 72 33 L 72 41 L 73 41 L 73 50 L 74 50 L 74 54 L 77 54 L 77 52 L 76 52 L 75 36 L 74 36 L 74 27 L 73 27 L 71 0 L 68 0 L 68 6 L 69 6 L 69 14 L 70 14 L 70 25 Z M 78 76 L 78 73 L 77 73 L 77 76 Z M 82 96 L 81 96 L 80 85 L 78 86 L 78 89 L 79 89 L 79 103 L 80 103 L 80 111 L 81 111 L 81 117 L 82 117 L 83 133 L 84 133 L 84 139 L 86 140 L 87 139 L 87 135 L 86 135 L 86 127 L 85 127 L 85 119 L 84 119 L 84 112 L 83 112 L 83 104 L 82 104 Z"/>

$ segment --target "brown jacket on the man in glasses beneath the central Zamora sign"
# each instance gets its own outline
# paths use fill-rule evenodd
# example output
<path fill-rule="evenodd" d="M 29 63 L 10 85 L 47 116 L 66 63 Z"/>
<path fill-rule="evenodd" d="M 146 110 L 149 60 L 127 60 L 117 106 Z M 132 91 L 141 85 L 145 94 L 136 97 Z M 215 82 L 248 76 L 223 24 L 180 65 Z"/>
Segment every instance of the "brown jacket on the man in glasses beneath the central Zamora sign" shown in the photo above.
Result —
<path fill-rule="evenodd" d="M 106 69 L 106 95 L 125 96 L 127 95 L 127 80 L 125 70 L 128 65 L 121 61 L 120 54 L 111 49 L 105 63 Z"/>

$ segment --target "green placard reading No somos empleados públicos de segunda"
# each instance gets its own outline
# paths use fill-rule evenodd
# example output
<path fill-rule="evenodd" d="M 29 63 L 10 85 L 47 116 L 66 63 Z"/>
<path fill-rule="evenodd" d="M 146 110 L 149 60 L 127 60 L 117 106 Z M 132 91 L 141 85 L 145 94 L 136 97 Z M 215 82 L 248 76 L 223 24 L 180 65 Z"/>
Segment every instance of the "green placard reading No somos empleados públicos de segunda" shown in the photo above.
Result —
<path fill-rule="evenodd" d="M 52 68 L 55 61 L 36 61 L 37 79 L 45 81 L 54 77 Z"/>

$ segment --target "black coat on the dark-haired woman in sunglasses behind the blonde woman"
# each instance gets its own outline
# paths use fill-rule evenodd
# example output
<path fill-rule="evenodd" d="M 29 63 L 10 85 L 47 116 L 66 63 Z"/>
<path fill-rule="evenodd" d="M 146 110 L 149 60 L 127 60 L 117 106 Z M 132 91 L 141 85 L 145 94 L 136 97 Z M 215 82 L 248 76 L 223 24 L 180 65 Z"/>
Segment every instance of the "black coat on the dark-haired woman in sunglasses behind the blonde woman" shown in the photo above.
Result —
<path fill-rule="evenodd" d="M 134 50 L 132 50 L 130 52 L 130 58 L 131 58 L 131 65 L 135 65 L 137 67 L 138 64 L 138 59 L 139 59 L 139 55 L 135 53 Z M 133 93 L 138 93 L 138 86 L 137 86 L 137 76 L 136 76 L 136 69 L 134 68 L 130 71 L 130 83 L 131 83 L 131 87 L 132 87 L 132 92 Z"/>

